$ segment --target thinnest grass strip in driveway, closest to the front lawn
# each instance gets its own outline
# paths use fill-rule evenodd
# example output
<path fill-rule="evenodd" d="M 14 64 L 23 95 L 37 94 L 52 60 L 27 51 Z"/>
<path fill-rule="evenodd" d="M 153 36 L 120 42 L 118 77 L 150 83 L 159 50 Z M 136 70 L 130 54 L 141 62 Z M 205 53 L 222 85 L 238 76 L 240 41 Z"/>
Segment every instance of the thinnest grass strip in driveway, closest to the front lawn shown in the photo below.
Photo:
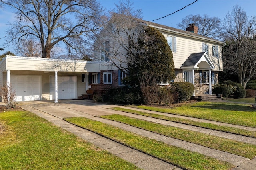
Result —
<path fill-rule="evenodd" d="M 234 127 L 220 126 L 220 125 L 215 125 L 212 123 L 204 123 L 204 122 L 193 121 L 193 120 L 189 120 L 189 119 L 182 119 L 182 118 L 178 118 L 178 117 L 169 117 L 169 116 L 165 116 L 165 115 L 147 113 L 144 111 L 137 111 L 137 110 L 131 110 L 131 109 L 124 109 L 124 108 L 120 108 L 120 107 L 114 107 L 114 108 L 109 108 L 109 109 L 256 138 L 256 132 L 247 131 L 244 129 L 238 129 L 238 128 L 234 128 Z"/>

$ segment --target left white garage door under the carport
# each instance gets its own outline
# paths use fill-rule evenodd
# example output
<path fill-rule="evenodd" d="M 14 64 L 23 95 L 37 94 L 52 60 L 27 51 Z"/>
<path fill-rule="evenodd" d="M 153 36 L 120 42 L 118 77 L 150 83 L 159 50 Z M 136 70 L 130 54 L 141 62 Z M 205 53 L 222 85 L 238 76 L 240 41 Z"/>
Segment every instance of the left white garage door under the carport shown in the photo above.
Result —
<path fill-rule="evenodd" d="M 41 100 L 41 76 L 11 75 L 10 83 L 16 101 Z"/>

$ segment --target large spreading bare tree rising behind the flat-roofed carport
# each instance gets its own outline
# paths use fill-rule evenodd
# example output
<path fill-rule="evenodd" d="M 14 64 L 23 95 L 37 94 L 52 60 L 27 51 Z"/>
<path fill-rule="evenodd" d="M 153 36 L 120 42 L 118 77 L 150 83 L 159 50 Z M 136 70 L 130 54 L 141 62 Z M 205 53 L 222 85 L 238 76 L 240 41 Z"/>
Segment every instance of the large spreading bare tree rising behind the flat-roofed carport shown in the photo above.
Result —
<path fill-rule="evenodd" d="M 44 58 L 50 58 L 51 49 L 60 43 L 70 53 L 80 52 L 98 30 L 102 13 L 96 0 L 0 0 L 2 5 L 16 14 L 16 21 L 9 24 L 8 43 L 35 39 Z"/>

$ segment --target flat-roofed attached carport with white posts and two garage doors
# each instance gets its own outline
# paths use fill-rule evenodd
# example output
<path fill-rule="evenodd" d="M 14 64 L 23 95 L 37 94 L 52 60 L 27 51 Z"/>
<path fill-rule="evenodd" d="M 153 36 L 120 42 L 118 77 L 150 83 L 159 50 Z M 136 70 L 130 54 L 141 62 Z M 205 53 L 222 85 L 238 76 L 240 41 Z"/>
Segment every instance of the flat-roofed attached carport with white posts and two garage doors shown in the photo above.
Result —
<path fill-rule="evenodd" d="M 100 72 L 100 68 L 110 69 L 97 61 L 7 55 L 0 61 L 0 83 L 12 86 L 16 101 L 54 100 L 57 103 L 58 99 L 77 99 L 86 93 L 88 80 L 82 75 Z"/>

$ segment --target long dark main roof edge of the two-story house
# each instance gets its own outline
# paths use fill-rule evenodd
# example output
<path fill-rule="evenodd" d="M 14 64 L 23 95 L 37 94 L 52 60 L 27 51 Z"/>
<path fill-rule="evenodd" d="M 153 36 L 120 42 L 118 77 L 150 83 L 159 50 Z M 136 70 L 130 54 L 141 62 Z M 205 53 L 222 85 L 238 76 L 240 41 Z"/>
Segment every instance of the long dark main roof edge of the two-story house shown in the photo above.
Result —
<path fill-rule="evenodd" d="M 142 22 L 147 24 L 148 26 L 152 25 L 152 26 L 155 26 L 155 27 L 163 28 L 163 29 L 169 29 L 170 31 L 176 31 L 176 32 L 180 32 L 180 33 L 183 33 L 183 34 L 192 35 L 192 36 L 196 36 L 196 37 L 200 37 L 200 38 L 204 38 L 204 39 L 209 39 L 210 41 L 216 41 L 218 43 L 224 44 L 224 42 L 222 42 L 222 41 L 218 41 L 216 39 L 212 39 L 212 38 L 209 38 L 209 37 L 206 37 L 206 36 L 203 36 L 203 35 L 192 33 L 190 31 L 184 31 L 184 30 L 181 30 L 181 29 L 168 27 L 168 26 L 165 26 L 165 25 L 161 25 L 161 24 L 158 24 L 158 23 L 149 22 L 149 21 L 145 21 L 145 20 L 142 20 Z"/>

